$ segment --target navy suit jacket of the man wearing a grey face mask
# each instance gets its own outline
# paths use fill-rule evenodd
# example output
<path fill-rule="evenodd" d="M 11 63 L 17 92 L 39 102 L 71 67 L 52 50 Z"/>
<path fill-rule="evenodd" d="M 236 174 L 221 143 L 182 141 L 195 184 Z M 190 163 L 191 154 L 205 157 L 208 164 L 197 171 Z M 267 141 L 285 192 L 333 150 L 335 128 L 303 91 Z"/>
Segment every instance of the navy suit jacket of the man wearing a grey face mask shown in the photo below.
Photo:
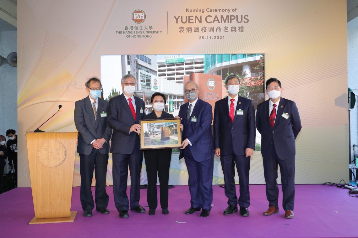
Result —
<path fill-rule="evenodd" d="M 212 159 L 214 157 L 213 134 L 211 132 L 213 108 L 209 103 L 198 98 L 192 115 L 187 121 L 188 106 L 189 103 L 187 102 L 180 106 L 179 109 L 179 117 L 183 118 L 183 141 L 188 138 L 190 143 L 192 143 L 192 146 L 188 146 L 195 161 L 202 162 Z M 194 116 L 197 118 L 197 122 L 191 121 L 191 118 Z M 183 157 L 184 151 L 180 150 L 179 159 Z"/>

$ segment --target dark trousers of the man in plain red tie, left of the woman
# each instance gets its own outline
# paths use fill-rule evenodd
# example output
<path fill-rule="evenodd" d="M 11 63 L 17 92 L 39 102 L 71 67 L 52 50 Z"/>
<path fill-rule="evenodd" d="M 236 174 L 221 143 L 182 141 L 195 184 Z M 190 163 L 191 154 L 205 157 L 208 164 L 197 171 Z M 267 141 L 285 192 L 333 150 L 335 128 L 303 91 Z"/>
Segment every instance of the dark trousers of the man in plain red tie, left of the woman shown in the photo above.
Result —
<path fill-rule="evenodd" d="M 139 150 L 139 140 L 136 140 L 131 154 L 112 153 L 112 156 L 114 203 L 118 212 L 122 210 L 128 211 L 129 206 L 130 208 L 135 208 L 139 205 L 140 171 L 143 162 L 143 154 Z M 131 174 L 129 201 L 127 196 L 128 167 Z"/>

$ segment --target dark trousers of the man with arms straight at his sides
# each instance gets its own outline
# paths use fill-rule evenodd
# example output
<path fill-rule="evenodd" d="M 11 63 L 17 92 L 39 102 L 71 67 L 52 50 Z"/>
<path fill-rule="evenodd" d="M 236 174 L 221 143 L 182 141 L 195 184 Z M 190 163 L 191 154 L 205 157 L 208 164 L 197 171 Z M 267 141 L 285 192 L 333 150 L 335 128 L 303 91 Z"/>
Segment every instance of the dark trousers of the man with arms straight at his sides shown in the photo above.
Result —
<path fill-rule="evenodd" d="M 250 206 L 249 172 L 250 156 L 245 157 L 235 155 L 234 151 L 230 155 L 221 155 L 221 167 L 225 181 L 225 195 L 228 198 L 227 203 L 232 206 L 240 207 Z M 237 199 L 235 186 L 235 164 L 240 183 L 240 197 Z"/>

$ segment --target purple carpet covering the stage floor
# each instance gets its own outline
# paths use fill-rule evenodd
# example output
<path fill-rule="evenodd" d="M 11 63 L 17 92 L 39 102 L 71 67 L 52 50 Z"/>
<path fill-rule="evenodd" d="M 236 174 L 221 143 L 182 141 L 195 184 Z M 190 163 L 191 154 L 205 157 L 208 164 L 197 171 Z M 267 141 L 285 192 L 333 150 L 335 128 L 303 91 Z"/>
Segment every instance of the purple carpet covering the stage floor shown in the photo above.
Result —
<path fill-rule="evenodd" d="M 280 213 L 262 215 L 268 206 L 264 185 L 250 186 L 250 217 L 241 217 L 239 213 L 224 216 L 227 207 L 224 189 L 219 186 L 213 189 L 209 217 L 199 217 L 200 212 L 185 215 L 184 211 L 190 207 L 188 187 L 175 186 L 169 189 L 169 215 L 163 215 L 158 205 L 154 216 L 129 211 L 129 218 L 119 218 L 112 187 L 107 187 L 110 214 L 103 215 L 93 209 L 92 217 L 83 217 L 79 187 L 76 187 L 71 208 L 77 211 L 75 222 L 28 225 L 34 217 L 31 188 L 15 188 L 0 194 L 0 237 L 358 237 L 358 199 L 350 197 L 347 189 L 296 185 L 294 219 L 284 218 L 282 194 Z M 140 204 L 148 212 L 146 192 L 141 190 Z"/>

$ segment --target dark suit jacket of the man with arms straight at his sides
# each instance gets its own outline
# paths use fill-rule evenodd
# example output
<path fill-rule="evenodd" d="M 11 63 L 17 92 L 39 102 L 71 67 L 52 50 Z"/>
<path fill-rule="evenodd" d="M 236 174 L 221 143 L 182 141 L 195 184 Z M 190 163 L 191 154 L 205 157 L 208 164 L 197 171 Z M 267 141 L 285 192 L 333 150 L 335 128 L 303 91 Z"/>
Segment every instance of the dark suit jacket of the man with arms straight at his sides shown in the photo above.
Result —
<path fill-rule="evenodd" d="M 243 115 L 236 115 L 236 110 Z M 255 150 L 255 108 L 250 99 L 238 97 L 234 120 L 229 117 L 228 98 L 215 103 L 214 108 L 214 148 L 220 148 L 221 155 L 234 150 L 237 156 L 246 155 L 246 148 Z"/>

